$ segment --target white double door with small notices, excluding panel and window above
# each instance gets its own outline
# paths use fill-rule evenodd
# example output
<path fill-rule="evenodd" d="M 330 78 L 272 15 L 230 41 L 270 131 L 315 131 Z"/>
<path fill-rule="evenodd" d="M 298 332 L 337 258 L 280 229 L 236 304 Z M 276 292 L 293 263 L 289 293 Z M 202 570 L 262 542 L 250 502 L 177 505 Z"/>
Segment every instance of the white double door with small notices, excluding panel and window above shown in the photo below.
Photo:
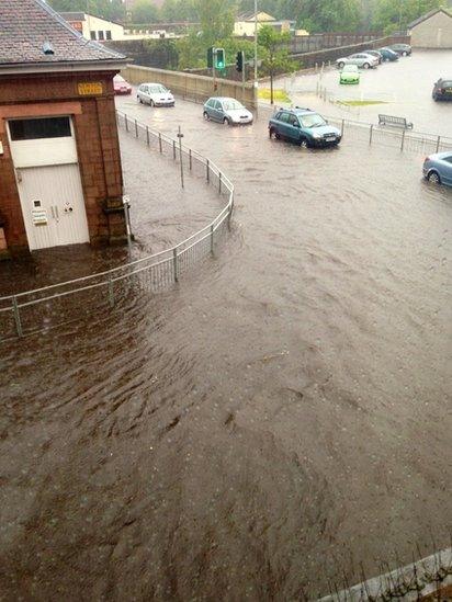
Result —
<path fill-rule="evenodd" d="M 78 163 L 16 169 L 30 249 L 89 242 Z"/>

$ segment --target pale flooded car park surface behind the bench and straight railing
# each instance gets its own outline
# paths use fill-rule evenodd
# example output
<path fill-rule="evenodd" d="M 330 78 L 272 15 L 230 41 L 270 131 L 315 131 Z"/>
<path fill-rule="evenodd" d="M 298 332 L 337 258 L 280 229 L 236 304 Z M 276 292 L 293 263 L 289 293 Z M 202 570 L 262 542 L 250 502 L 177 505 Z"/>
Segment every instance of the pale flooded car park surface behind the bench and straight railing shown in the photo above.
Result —
<path fill-rule="evenodd" d="M 298 73 L 279 78 L 275 87 L 286 90 L 295 105 L 312 106 L 328 115 L 378 123 L 378 113 L 405 117 L 417 132 L 452 137 L 452 102 L 434 102 L 433 83 L 439 78 L 452 78 L 452 50 L 418 50 L 396 63 L 383 63 L 376 69 L 360 69 L 358 86 L 339 83 L 336 67 L 320 75 Z M 265 84 L 268 87 L 268 84 Z M 326 102 L 314 93 L 326 89 Z M 340 106 L 335 101 L 381 101 L 383 104 Z"/>

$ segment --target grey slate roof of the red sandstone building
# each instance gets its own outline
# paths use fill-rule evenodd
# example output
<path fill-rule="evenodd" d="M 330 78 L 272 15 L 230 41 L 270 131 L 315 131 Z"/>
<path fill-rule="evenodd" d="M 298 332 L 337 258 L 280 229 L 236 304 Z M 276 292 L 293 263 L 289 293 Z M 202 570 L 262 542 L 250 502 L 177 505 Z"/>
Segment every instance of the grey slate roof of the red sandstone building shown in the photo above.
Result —
<path fill-rule="evenodd" d="M 125 61 L 123 55 L 84 39 L 43 0 L 0 0 L 0 69 Z"/>

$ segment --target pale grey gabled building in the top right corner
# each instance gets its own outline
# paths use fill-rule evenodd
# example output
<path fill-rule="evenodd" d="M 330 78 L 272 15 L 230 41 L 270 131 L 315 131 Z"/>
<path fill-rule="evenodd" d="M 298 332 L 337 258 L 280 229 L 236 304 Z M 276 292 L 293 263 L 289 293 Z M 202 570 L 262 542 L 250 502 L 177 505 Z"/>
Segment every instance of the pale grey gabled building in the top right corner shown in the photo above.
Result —
<path fill-rule="evenodd" d="M 452 11 L 438 9 L 408 25 L 414 48 L 452 48 Z"/>

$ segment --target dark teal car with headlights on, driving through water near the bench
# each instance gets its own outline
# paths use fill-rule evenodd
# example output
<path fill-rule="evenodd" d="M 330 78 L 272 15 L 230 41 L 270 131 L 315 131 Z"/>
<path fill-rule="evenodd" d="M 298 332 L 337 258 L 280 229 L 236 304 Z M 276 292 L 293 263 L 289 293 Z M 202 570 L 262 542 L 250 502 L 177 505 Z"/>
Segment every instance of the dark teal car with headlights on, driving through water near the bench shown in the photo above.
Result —
<path fill-rule="evenodd" d="M 280 109 L 269 122 L 270 138 L 284 138 L 302 146 L 336 146 L 341 133 L 310 109 Z"/>

